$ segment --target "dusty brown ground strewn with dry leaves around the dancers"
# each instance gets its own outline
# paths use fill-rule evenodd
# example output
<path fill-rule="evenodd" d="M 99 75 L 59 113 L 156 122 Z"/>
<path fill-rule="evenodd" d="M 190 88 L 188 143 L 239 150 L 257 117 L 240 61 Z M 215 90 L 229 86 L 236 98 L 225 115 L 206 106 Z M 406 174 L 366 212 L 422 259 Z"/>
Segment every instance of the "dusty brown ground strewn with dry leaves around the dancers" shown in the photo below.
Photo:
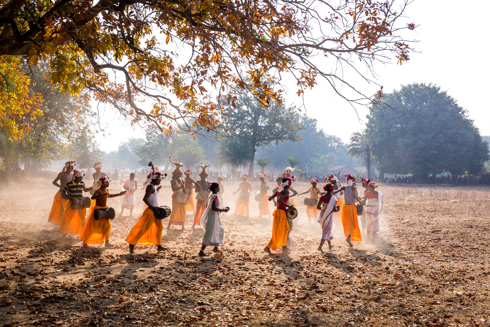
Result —
<path fill-rule="evenodd" d="M 226 186 L 233 209 L 235 185 Z M 271 220 L 256 217 L 252 200 L 251 218 L 222 217 L 223 255 L 201 259 L 203 232 L 190 228 L 191 215 L 183 231 L 164 229 L 170 251 L 137 246 L 129 255 L 124 238 L 140 202 L 136 217 L 112 221 L 115 248 L 84 251 L 47 222 L 50 181 L 10 185 L 0 191 L 0 326 L 489 326 L 490 189 L 379 190 L 375 244 L 348 248 L 337 229 L 335 248 L 317 252 L 320 227 L 305 217 L 302 196 L 293 251 L 265 255 Z M 159 203 L 169 200 L 164 182 Z M 108 205 L 118 211 L 121 198 Z"/>

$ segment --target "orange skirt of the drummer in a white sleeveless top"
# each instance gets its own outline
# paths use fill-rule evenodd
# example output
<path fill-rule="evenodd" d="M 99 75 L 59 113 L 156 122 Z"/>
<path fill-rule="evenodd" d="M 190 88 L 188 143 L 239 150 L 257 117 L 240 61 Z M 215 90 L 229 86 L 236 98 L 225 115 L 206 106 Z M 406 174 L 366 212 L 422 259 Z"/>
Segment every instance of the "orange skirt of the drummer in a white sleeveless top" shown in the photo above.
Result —
<path fill-rule="evenodd" d="M 146 208 L 136 225 L 131 228 L 126 242 L 131 245 L 162 245 L 162 231 L 162 221 L 155 218 L 150 208 Z"/>

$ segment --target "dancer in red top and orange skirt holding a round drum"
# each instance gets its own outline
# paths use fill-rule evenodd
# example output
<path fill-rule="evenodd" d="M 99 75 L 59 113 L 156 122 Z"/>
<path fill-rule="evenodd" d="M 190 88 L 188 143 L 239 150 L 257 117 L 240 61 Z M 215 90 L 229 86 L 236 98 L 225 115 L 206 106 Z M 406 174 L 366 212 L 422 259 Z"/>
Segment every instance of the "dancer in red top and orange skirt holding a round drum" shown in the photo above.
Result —
<path fill-rule="evenodd" d="M 272 237 L 269 243 L 264 248 L 264 251 L 272 254 L 270 250 L 277 251 L 278 247 L 282 247 L 282 251 L 288 251 L 287 238 L 289 234 L 288 219 L 286 216 L 286 210 L 288 208 L 296 210 L 292 204 L 288 204 L 289 201 L 289 187 L 291 185 L 291 178 L 283 178 L 279 189 L 277 190 L 277 195 L 271 195 L 269 201 L 277 197 L 277 208 L 274 210 L 272 217 Z"/>

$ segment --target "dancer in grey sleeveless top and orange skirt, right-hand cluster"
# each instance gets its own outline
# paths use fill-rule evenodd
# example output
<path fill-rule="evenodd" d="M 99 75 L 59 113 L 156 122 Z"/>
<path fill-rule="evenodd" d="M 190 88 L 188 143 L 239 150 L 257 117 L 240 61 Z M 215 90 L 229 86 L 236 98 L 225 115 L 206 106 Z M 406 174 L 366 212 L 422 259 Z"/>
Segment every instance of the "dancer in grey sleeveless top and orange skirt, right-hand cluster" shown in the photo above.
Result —
<path fill-rule="evenodd" d="M 343 191 L 344 201 L 342 205 L 342 226 L 343 233 L 347 237 L 345 241 L 352 247 L 351 241 L 362 241 L 361 230 L 357 221 L 356 200 L 363 203 L 363 200 L 357 196 L 357 187 L 354 185 L 356 177 L 350 174 L 344 175 L 347 180 L 347 186 L 341 187 L 337 192 Z M 334 192 L 337 193 L 337 192 Z"/>

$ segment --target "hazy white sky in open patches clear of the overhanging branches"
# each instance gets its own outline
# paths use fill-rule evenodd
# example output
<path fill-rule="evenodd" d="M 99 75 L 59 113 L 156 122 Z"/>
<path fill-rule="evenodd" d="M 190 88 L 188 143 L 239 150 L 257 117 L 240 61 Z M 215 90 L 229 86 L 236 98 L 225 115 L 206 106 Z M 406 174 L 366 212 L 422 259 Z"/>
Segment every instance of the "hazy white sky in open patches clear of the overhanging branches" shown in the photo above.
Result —
<path fill-rule="evenodd" d="M 413 82 L 434 83 L 447 90 L 468 111 L 483 135 L 490 135 L 487 101 L 490 64 L 486 58 L 490 45 L 485 36 L 489 10 L 490 0 L 472 2 L 471 14 L 463 10 L 461 1 L 414 1 L 406 14 L 419 26 L 406 37 L 420 40 L 415 45 L 419 53 L 412 53 L 410 61 L 403 66 L 374 67 L 383 90 L 390 92 L 401 84 Z M 377 89 L 375 85 L 366 85 L 362 91 L 373 94 Z M 295 84 L 292 84 L 287 103 L 299 103 L 295 92 Z M 363 120 L 358 122 L 354 109 L 321 82 L 313 90 L 305 92 L 305 103 L 307 115 L 316 118 L 328 134 L 337 135 L 344 142 L 348 142 L 350 134 L 363 129 L 366 123 L 367 108 L 358 108 L 359 117 Z M 337 124 L 331 124 L 332 120 Z M 120 142 L 130 137 L 144 137 L 140 127 L 128 126 L 113 109 L 107 108 L 103 112 L 102 121 L 110 125 L 105 136 L 101 133 L 97 136 L 104 151 L 115 150 Z M 350 124 L 346 124 L 347 121 Z"/>

